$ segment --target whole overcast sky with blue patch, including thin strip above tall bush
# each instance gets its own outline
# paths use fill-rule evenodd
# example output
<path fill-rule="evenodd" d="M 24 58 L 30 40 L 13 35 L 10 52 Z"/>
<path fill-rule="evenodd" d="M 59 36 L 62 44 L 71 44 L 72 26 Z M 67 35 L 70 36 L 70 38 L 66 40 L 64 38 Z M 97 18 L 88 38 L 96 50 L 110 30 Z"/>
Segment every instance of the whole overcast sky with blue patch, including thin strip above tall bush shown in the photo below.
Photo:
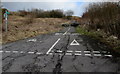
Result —
<path fill-rule="evenodd" d="M 117 0 L 2 0 L 2 5 L 10 11 L 40 8 L 44 10 L 72 10 L 75 16 L 81 16 L 90 2 Z M 119 0 L 118 0 L 119 1 Z"/>

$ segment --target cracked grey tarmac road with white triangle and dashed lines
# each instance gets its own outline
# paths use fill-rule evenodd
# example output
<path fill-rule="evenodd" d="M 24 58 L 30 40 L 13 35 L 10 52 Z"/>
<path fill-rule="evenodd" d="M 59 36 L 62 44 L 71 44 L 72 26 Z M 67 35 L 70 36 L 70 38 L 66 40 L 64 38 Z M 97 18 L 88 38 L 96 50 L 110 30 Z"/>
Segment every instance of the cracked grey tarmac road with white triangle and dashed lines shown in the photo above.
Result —
<path fill-rule="evenodd" d="M 2 46 L 3 72 L 120 72 L 106 45 L 65 27 Z"/>

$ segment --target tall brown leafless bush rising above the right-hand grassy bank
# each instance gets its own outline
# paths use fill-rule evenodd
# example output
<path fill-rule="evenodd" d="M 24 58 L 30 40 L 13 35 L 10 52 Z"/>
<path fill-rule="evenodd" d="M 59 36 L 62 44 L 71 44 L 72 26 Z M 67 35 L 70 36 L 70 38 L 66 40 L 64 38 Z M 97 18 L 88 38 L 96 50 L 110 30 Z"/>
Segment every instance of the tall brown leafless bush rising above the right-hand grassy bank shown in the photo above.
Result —
<path fill-rule="evenodd" d="M 82 17 L 89 19 L 87 25 L 90 29 L 102 29 L 108 35 L 120 38 L 120 5 L 118 3 L 90 4 Z"/>

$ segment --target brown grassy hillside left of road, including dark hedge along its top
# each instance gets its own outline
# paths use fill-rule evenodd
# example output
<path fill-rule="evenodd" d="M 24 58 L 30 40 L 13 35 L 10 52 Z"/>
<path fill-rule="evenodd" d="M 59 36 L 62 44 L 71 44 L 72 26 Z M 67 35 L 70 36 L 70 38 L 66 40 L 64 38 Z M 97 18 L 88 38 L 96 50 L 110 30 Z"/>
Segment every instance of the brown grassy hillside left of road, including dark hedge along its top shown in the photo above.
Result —
<path fill-rule="evenodd" d="M 6 10 L 7 9 L 2 9 L 2 15 Z M 61 29 L 61 23 L 67 22 L 72 15 L 73 11 L 69 10 L 65 13 L 60 9 L 49 11 L 28 9 L 10 12 L 7 33 L 5 32 L 5 18 L 2 18 L 2 43 L 59 31 Z"/>

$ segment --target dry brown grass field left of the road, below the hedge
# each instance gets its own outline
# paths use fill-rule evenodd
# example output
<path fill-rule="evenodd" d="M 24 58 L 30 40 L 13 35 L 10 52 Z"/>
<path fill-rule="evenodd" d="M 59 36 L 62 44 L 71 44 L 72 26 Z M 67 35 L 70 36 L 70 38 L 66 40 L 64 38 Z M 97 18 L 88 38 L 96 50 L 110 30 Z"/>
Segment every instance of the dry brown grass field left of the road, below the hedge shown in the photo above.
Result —
<path fill-rule="evenodd" d="M 9 17 L 8 32 L 2 32 L 3 44 L 16 40 L 51 33 L 61 29 L 60 24 L 67 20 L 60 18 Z"/>

